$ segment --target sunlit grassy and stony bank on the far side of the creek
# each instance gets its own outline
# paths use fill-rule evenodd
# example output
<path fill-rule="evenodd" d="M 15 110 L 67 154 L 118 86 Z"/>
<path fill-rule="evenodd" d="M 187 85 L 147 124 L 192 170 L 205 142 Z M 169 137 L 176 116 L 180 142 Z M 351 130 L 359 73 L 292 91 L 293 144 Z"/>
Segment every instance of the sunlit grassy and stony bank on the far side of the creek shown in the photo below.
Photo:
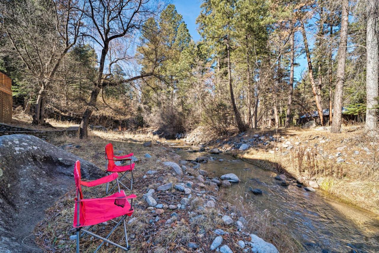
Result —
<path fill-rule="evenodd" d="M 376 194 L 379 182 L 373 177 L 360 176 L 362 171 L 359 170 L 370 171 L 369 168 L 376 166 L 373 155 L 379 152 L 378 143 L 365 140 L 359 127 L 346 128 L 338 135 L 327 130 L 327 127 L 313 126 L 307 130 L 262 129 L 260 132 L 249 130 L 218 137 L 206 134 L 198 127 L 183 141 L 188 145 L 200 144 L 208 152 L 217 148 L 219 152 L 267 170 L 284 172 L 290 178 L 301 178 L 305 187 L 325 190 L 345 203 L 379 214 L 379 206 L 374 204 L 379 201 Z M 299 163 L 299 169 L 296 164 L 299 157 L 308 157 L 318 165 L 312 167 L 304 160 Z"/>

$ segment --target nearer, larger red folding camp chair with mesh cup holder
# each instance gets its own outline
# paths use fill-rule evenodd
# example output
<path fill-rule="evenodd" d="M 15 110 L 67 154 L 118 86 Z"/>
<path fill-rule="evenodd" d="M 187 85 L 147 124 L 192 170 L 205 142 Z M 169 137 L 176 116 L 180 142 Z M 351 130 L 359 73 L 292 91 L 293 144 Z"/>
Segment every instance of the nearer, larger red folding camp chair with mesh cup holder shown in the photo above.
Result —
<path fill-rule="evenodd" d="M 96 237 L 102 240 L 102 243 L 99 247 L 96 248 L 94 252 L 97 252 L 100 247 L 107 242 L 116 247 L 119 247 L 123 250 L 128 250 L 128 235 L 126 233 L 126 224 L 125 218 L 127 216 L 131 216 L 133 214 L 133 198 L 137 196 L 132 194 L 129 196 L 125 195 L 125 192 L 118 191 L 111 196 L 105 198 L 90 198 L 84 199 L 83 193 L 81 192 L 81 185 L 85 185 L 88 187 L 104 184 L 110 181 L 117 180 L 118 174 L 113 173 L 103 178 L 91 181 L 91 182 L 83 182 L 80 180 L 80 162 L 76 161 L 74 168 L 74 178 L 76 185 L 76 198 L 75 198 L 75 210 L 74 210 L 74 228 L 76 228 L 76 252 L 79 253 L 79 242 L 80 237 L 84 236 L 85 233 L 90 234 L 93 237 Z M 131 200 L 129 203 L 128 199 Z M 121 217 L 121 219 L 117 222 L 114 218 Z M 111 221 L 116 225 L 110 231 L 110 233 L 106 237 L 98 236 L 83 227 L 85 226 L 93 226 L 102 222 Z M 113 231 L 121 224 L 124 223 L 124 233 L 125 233 L 125 242 L 126 247 L 123 247 L 115 242 L 112 242 L 108 238 L 111 236 Z M 82 233 L 81 233 L 82 232 Z"/>

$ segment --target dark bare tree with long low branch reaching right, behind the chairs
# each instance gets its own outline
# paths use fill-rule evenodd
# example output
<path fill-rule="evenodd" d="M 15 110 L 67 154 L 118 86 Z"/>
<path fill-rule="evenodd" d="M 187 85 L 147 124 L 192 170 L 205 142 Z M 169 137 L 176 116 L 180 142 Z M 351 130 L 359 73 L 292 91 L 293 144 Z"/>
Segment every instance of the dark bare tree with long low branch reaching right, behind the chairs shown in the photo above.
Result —
<path fill-rule="evenodd" d="M 108 52 L 114 41 L 133 39 L 135 32 L 143 23 L 157 12 L 156 6 L 151 6 L 149 0 L 88 0 L 85 16 L 89 26 L 87 36 L 101 48 L 97 78 L 91 91 L 88 105 L 80 123 L 80 138 L 88 136 L 88 124 L 92 112 L 96 109 L 97 97 L 105 85 L 118 85 L 120 83 L 132 82 L 136 79 L 149 77 L 155 74 L 151 72 L 141 73 L 134 77 L 118 80 L 110 80 L 112 64 L 117 61 L 127 61 L 124 55 L 117 54 L 117 61 L 108 57 Z M 106 67 L 106 64 L 108 67 Z M 107 69 L 108 68 L 108 69 Z"/>

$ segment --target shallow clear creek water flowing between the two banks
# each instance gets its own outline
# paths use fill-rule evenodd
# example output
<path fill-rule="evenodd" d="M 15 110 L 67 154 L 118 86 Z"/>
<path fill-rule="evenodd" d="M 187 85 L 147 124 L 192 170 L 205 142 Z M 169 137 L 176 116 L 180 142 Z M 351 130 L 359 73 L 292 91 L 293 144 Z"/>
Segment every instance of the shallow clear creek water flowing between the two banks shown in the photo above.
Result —
<path fill-rule="evenodd" d="M 274 179 L 275 173 L 227 154 L 188 152 L 187 149 L 198 148 L 180 141 L 168 141 L 168 144 L 176 148 L 175 152 L 182 159 L 194 160 L 199 156 L 216 159 L 208 160 L 201 169 L 218 177 L 236 174 L 241 182 L 232 184 L 230 197 L 235 198 L 240 192 L 246 201 L 254 201 L 258 209 L 267 209 L 301 242 L 315 242 L 324 248 L 323 252 L 379 252 L 378 215 L 345 204 L 321 190 L 307 192 L 291 179 L 288 180 L 290 185 L 283 187 Z M 249 186 L 261 189 L 263 194 L 244 194 Z"/>

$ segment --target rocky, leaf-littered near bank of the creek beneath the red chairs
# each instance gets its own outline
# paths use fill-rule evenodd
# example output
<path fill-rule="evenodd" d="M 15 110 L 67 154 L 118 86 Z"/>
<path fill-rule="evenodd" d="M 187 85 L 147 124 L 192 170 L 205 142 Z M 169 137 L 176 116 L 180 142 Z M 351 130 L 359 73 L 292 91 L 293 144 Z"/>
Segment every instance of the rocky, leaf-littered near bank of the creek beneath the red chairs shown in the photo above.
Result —
<path fill-rule="evenodd" d="M 103 142 L 100 140 L 96 144 L 83 143 L 82 147 L 87 147 L 86 149 L 69 150 L 85 157 L 96 152 L 96 164 L 102 165 L 102 151 L 98 151 L 97 147 L 103 145 Z M 225 184 L 221 179 L 196 169 L 197 164 L 186 162 L 159 141 L 152 141 L 151 145 L 145 146 L 143 141 L 112 143 L 116 149 L 120 149 L 116 151 L 117 154 L 133 151 L 139 157 L 133 173 L 135 183 L 132 191 L 138 198 L 135 212 L 127 222 L 129 244 L 132 248 L 143 248 L 143 252 L 175 252 L 179 249 L 209 252 L 217 236 L 222 236 L 223 241 L 214 251 L 251 252 L 252 248 L 259 247 L 259 242 L 251 240 L 252 235 L 260 235 L 259 230 L 252 227 L 252 223 L 243 217 L 234 204 L 223 200 L 220 195 L 222 188 L 230 187 L 229 181 L 225 181 L 229 186 L 222 186 Z M 59 143 L 60 146 L 62 144 Z M 145 157 L 144 154 L 150 154 L 151 157 Z M 178 168 L 181 173 L 178 173 Z M 86 188 L 86 198 L 99 197 L 100 193 L 103 194 L 102 188 Z M 74 192 L 67 193 L 46 211 L 47 218 L 36 228 L 37 242 L 42 248 L 53 249 L 55 252 L 71 252 L 74 249 L 75 240 L 70 238 L 75 231 L 72 224 L 67 223 L 67 220 L 72 219 L 70 210 L 74 195 Z M 230 218 L 227 223 L 222 220 L 224 216 Z M 53 229 L 48 229 L 51 226 Z M 104 223 L 91 229 L 102 235 L 109 228 Z M 122 243 L 121 230 L 116 229 L 114 237 Z M 58 240 L 50 241 L 50 238 Z M 276 244 L 276 241 L 272 241 L 274 238 L 276 237 L 264 239 L 268 243 Z M 96 239 L 87 238 L 81 242 L 81 247 L 93 248 L 96 244 Z M 105 247 L 110 249 L 112 246 Z M 287 245 L 281 243 L 279 247 L 287 248 Z M 294 247 L 290 244 L 288 248 Z"/>

